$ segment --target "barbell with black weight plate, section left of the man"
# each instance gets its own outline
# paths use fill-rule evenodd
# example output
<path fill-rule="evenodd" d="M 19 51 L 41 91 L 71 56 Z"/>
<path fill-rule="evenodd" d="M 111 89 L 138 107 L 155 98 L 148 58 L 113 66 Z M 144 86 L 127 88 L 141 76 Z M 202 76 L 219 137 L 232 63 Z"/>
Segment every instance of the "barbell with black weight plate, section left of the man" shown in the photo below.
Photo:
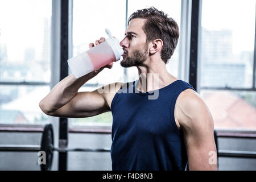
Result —
<path fill-rule="evenodd" d="M 53 151 L 58 152 L 110 152 L 110 148 L 56 148 L 54 147 L 53 127 L 51 124 L 44 126 L 41 145 L 0 145 L 0 151 L 12 152 L 46 152 L 46 164 L 40 164 L 42 171 L 49 171 L 52 167 Z"/>

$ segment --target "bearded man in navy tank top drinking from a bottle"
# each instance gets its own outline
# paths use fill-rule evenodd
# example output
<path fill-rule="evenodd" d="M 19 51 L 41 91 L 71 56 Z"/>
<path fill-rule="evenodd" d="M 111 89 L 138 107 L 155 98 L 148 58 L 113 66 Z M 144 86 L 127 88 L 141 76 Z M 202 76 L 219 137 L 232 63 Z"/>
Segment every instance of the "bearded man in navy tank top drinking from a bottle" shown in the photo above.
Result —
<path fill-rule="evenodd" d="M 189 170 L 216 170 L 210 111 L 191 85 L 166 69 L 179 39 L 177 23 L 151 7 L 133 13 L 128 25 L 120 42 L 121 66 L 137 67 L 139 80 L 77 92 L 102 69 L 112 68 L 111 63 L 78 79 L 64 78 L 40 108 L 48 115 L 69 118 L 112 111 L 113 170 L 184 170 L 187 163 Z M 96 46 L 104 40 L 96 40 Z M 148 99 L 156 92 L 158 97 Z"/>

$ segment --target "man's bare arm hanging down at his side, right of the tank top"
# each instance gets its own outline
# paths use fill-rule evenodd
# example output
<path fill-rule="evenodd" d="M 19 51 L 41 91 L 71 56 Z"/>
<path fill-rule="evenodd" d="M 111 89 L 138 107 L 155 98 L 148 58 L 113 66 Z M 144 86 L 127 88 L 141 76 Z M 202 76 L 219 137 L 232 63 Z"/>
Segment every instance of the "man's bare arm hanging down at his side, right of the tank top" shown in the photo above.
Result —
<path fill-rule="evenodd" d="M 199 94 L 185 90 L 177 98 L 189 170 L 217 170 L 213 118 Z"/>

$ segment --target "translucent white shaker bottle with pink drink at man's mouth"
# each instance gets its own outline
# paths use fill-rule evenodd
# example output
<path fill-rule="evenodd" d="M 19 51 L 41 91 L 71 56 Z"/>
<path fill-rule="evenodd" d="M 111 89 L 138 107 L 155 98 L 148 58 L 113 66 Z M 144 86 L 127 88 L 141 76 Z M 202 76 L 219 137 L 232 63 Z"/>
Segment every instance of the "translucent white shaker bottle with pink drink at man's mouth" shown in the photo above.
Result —
<path fill-rule="evenodd" d="M 106 33 L 109 35 L 109 39 L 106 39 L 105 42 L 68 60 L 68 66 L 76 78 L 121 58 L 123 49 L 119 46 L 118 39 L 113 38 L 108 29 L 106 29 Z"/>

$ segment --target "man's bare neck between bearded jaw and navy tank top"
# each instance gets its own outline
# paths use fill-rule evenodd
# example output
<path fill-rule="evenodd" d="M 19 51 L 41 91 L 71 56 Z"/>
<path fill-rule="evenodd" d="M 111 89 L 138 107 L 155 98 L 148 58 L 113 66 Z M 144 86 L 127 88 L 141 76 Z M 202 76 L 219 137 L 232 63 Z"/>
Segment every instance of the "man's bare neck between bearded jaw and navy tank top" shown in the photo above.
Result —
<path fill-rule="evenodd" d="M 135 86 L 141 92 L 157 90 L 178 80 L 167 71 L 166 64 L 161 59 L 146 60 L 137 68 L 139 83 Z"/>

